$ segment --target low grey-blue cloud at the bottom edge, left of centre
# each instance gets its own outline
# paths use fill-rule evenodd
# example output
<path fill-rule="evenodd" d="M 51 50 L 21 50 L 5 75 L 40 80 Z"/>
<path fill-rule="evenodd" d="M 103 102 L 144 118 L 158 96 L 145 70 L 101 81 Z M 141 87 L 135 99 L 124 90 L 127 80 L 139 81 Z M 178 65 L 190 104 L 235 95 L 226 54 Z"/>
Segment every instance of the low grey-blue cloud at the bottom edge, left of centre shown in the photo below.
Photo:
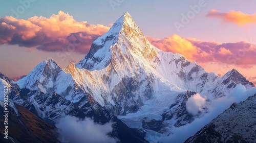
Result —
<path fill-rule="evenodd" d="M 90 118 L 80 120 L 77 117 L 68 115 L 61 118 L 56 127 L 59 129 L 59 138 L 69 142 L 117 142 L 116 139 L 108 135 L 113 130 L 112 123 L 100 125 L 95 124 Z"/>

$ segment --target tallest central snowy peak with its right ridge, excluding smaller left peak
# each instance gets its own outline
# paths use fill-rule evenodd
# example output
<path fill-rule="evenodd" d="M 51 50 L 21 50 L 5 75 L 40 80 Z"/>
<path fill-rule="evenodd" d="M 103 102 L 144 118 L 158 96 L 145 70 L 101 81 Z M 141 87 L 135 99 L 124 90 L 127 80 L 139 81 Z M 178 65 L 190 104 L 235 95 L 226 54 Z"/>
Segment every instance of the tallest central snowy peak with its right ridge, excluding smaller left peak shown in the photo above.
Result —
<path fill-rule="evenodd" d="M 151 111 L 164 111 L 178 94 L 187 90 L 213 100 L 227 96 L 240 83 L 252 87 L 242 77 L 220 78 L 181 54 L 159 50 L 127 12 L 92 43 L 89 53 L 76 66 L 79 69 L 69 66 L 72 69 L 65 71 L 72 73 L 81 89 L 115 115 L 137 112 L 145 107 L 145 102 L 154 100 L 163 106 L 154 103 L 152 107 L 159 108 Z"/>

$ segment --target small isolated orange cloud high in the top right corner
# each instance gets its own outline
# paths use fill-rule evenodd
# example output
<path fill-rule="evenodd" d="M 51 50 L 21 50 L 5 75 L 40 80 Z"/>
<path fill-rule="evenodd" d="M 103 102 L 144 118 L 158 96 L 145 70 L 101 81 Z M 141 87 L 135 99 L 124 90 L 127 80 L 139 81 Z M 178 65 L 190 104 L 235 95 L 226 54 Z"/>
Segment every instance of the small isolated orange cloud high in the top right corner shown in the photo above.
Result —
<path fill-rule="evenodd" d="M 221 13 L 217 10 L 210 10 L 207 14 L 208 17 L 221 18 L 225 22 L 232 22 L 236 25 L 243 26 L 247 23 L 256 24 L 256 14 L 246 14 L 241 11 L 230 11 L 228 13 Z"/>

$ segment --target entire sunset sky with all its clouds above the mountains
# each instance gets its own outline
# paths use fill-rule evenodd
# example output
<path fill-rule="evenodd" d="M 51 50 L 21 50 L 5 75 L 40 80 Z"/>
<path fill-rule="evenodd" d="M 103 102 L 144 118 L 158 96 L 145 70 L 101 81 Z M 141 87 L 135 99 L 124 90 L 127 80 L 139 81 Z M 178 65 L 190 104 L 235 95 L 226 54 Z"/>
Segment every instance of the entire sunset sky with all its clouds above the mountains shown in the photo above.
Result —
<path fill-rule="evenodd" d="M 79 62 L 126 11 L 163 51 L 208 72 L 236 68 L 256 84 L 256 1 L 1 1 L 0 72 L 18 79 L 50 58 Z"/>

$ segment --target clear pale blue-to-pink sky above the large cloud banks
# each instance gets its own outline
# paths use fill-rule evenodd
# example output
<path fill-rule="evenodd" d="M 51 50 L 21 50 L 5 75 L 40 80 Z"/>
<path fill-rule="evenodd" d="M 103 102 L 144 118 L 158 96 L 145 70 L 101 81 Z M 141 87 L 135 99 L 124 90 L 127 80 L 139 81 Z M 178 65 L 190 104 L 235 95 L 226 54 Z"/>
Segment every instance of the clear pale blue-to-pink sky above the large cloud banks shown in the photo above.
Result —
<path fill-rule="evenodd" d="M 25 0 L 26 1 L 26 0 Z M 32 1 L 32 0 L 31 0 Z M 214 18 L 206 18 L 205 15 L 211 9 L 221 12 L 229 12 L 230 10 L 242 11 L 244 13 L 253 14 L 256 1 L 214 1 L 205 0 L 205 7 L 201 8 L 195 18 L 178 32 L 174 26 L 174 22 L 181 21 L 181 14 L 187 14 L 190 6 L 198 5 L 200 1 L 39 1 L 33 0 L 31 6 L 20 14 L 18 18 L 28 18 L 32 16 L 50 17 L 57 14 L 58 11 L 68 12 L 77 21 L 88 21 L 91 24 L 100 23 L 108 26 L 113 23 L 124 12 L 128 11 L 147 36 L 155 38 L 164 38 L 173 34 L 182 37 L 193 37 L 200 40 L 232 42 L 251 38 L 255 30 L 246 30 L 236 25 L 222 25 L 221 20 Z M 120 2 L 114 9 L 111 2 Z M 2 1 L 0 17 L 12 15 L 12 10 L 22 5 L 19 1 Z M 255 26 L 253 26 L 255 28 Z M 205 30 L 209 32 L 205 32 Z M 236 35 L 230 38 L 230 35 Z"/>

